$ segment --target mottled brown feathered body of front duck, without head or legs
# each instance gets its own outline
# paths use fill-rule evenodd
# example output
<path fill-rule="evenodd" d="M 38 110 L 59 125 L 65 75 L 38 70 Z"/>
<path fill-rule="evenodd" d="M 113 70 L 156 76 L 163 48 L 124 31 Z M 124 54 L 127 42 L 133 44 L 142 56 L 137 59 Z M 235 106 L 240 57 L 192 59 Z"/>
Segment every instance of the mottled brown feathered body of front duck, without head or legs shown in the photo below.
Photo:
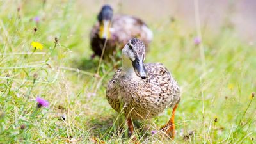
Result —
<path fill-rule="evenodd" d="M 161 63 L 147 63 L 147 79 L 127 77 L 118 69 L 109 81 L 106 97 L 113 109 L 133 119 L 152 118 L 180 100 L 175 79 Z"/>

